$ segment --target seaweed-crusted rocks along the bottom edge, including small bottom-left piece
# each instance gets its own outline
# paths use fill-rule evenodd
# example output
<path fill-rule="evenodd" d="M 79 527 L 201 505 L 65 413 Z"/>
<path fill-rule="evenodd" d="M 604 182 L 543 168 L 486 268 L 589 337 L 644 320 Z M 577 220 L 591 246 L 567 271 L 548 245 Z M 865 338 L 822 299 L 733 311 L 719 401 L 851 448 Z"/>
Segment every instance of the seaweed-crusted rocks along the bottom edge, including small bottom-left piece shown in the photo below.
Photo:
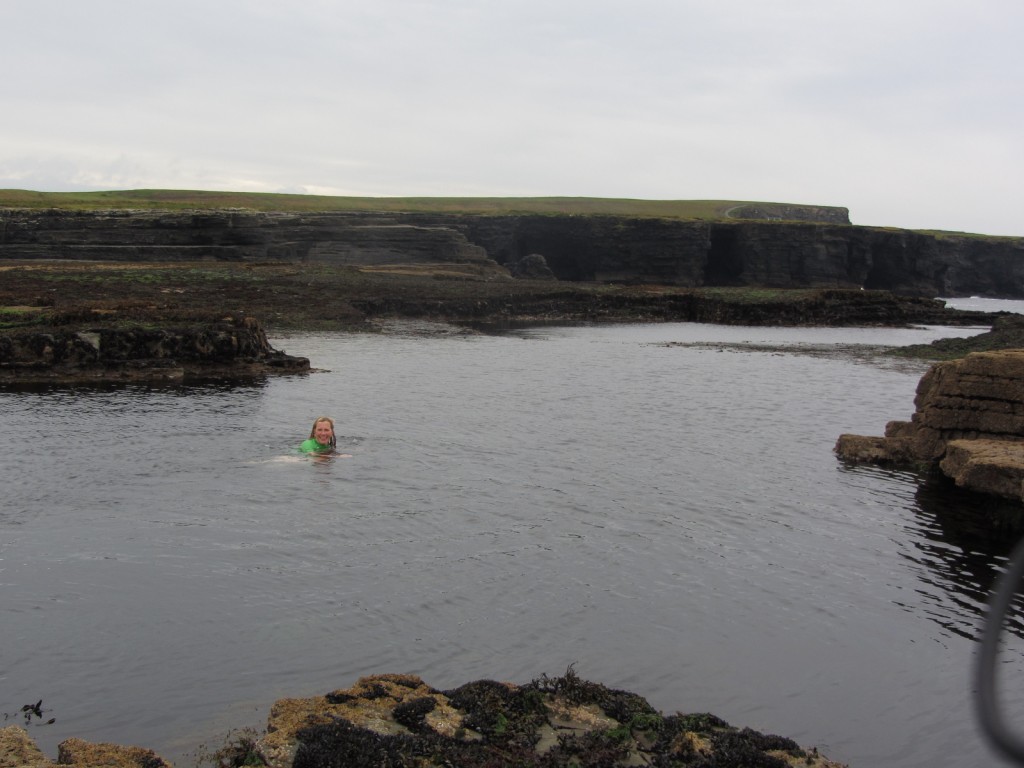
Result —
<path fill-rule="evenodd" d="M 79 739 L 59 750 L 59 765 L 166 765 L 147 751 Z M 221 766 L 271 768 L 842 768 L 816 750 L 714 715 L 663 716 L 641 696 L 587 682 L 571 669 L 523 686 L 479 680 L 447 691 L 415 675 L 365 677 L 323 696 L 279 700 L 264 737 L 237 738 L 209 757 Z M 0 730 L 0 768 L 22 765 L 52 764 L 23 729 Z"/>

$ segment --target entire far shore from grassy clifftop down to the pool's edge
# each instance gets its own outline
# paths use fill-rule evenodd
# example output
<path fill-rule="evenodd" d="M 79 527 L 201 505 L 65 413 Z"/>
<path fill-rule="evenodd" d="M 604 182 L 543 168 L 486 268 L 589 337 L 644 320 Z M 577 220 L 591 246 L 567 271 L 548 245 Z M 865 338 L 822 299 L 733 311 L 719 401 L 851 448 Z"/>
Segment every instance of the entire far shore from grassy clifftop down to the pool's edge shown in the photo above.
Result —
<path fill-rule="evenodd" d="M 0 379 L 188 378 L 308 366 L 264 329 L 391 318 L 991 326 L 936 297 L 1024 297 L 1024 239 L 784 203 L 6 189 L 0 273 Z"/>

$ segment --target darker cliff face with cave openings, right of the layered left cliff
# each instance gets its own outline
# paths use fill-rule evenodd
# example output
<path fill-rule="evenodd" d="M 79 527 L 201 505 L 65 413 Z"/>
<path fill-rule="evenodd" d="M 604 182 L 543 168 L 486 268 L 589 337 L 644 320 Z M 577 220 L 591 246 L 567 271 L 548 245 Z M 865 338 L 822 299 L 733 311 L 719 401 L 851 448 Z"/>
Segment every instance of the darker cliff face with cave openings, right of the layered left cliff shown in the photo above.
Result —
<path fill-rule="evenodd" d="M 617 217 L 478 217 L 461 225 L 500 263 L 539 253 L 562 280 L 1024 297 L 1021 239 Z"/>

